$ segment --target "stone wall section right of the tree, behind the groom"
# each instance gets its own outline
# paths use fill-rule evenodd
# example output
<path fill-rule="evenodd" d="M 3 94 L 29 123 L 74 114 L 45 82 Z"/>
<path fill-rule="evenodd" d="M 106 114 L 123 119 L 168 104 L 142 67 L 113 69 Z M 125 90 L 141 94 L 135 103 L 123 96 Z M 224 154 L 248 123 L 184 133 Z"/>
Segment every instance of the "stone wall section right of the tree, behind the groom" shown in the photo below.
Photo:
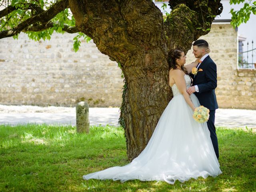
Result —
<path fill-rule="evenodd" d="M 219 107 L 256 109 L 256 70 L 238 70 L 236 30 L 230 24 L 212 24 L 211 32 L 200 39 L 209 43 L 217 65 Z M 187 53 L 188 63 L 191 60 L 192 49 Z"/>

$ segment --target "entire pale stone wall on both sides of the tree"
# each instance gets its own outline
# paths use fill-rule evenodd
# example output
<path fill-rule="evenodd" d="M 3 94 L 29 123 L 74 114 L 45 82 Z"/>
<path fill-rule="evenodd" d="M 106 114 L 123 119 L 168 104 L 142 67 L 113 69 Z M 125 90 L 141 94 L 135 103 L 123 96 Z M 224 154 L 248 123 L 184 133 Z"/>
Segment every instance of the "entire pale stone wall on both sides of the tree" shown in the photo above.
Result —
<path fill-rule="evenodd" d="M 75 34 L 54 34 L 34 42 L 25 34 L 0 40 L 0 104 L 120 107 L 121 70 L 93 42 L 72 50 Z M 212 24 L 210 56 L 217 64 L 220 108 L 256 109 L 256 71 L 237 69 L 237 32 L 230 24 Z M 192 50 L 187 63 L 194 61 Z"/>

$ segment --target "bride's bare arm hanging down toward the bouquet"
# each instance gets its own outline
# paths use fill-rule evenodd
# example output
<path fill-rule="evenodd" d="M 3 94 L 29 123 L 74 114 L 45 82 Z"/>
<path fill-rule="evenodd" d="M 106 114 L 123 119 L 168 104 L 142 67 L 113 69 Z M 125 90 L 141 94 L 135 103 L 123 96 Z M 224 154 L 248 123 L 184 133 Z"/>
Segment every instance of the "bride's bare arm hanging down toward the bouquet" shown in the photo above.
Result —
<path fill-rule="evenodd" d="M 188 103 L 188 105 L 194 111 L 196 109 L 196 107 L 194 106 L 194 104 L 193 104 L 189 94 L 187 93 L 186 81 L 185 81 L 185 78 L 184 78 L 184 73 L 181 70 L 175 70 L 173 72 L 173 79 L 174 79 L 174 82 L 175 82 L 176 86 L 178 87 L 178 90 L 184 96 L 186 102 Z"/>

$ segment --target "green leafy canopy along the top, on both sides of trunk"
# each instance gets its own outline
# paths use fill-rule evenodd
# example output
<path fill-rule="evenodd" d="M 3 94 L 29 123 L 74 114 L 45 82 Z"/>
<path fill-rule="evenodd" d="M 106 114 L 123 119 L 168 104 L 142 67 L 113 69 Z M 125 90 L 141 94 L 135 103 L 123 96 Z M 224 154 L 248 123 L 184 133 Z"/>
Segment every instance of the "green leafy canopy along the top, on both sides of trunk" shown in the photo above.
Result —
<path fill-rule="evenodd" d="M 256 14 L 256 1 L 230 0 L 230 4 L 244 3 L 240 10 L 230 10 L 231 24 L 236 27 L 246 23 L 250 14 Z M 163 3 L 164 14 L 167 4 Z M 77 33 L 73 38 L 74 51 L 80 46 L 80 39 L 91 40 L 75 26 L 75 19 L 68 8 L 67 0 L 11 0 L 0 1 L 0 38 L 12 36 L 17 39 L 20 32 L 25 32 L 32 40 L 50 40 L 52 33 Z"/>

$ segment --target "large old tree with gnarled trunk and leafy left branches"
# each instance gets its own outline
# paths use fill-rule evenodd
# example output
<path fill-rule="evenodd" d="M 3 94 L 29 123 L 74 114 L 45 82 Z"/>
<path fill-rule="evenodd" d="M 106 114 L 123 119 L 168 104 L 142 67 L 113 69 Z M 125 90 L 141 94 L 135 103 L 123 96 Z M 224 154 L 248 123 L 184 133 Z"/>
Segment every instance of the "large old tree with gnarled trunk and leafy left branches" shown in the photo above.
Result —
<path fill-rule="evenodd" d="M 222 12 L 220 0 L 170 0 L 164 20 L 151 0 L 12 0 L 0 11 L 0 38 L 25 32 L 34 40 L 54 32 L 79 32 L 93 39 L 124 75 L 120 124 L 128 158 L 144 149 L 172 92 L 168 85 L 168 52 L 186 53 L 192 42 L 210 31 Z M 71 11 L 71 13 L 69 12 Z"/>

